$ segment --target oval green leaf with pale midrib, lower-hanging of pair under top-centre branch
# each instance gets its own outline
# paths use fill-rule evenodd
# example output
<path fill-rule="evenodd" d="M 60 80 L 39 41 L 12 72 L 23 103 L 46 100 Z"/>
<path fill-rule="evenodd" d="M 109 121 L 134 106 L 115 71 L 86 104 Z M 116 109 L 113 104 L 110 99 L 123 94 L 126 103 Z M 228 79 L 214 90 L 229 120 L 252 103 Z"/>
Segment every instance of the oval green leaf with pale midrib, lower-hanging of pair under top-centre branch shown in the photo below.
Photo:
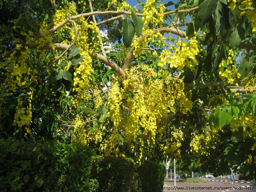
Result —
<path fill-rule="evenodd" d="M 135 35 L 135 29 L 134 29 L 134 25 L 132 23 L 131 20 L 129 20 L 128 18 L 125 18 L 123 20 L 123 42 L 124 42 L 124 46 L 131 46 L 132 43 L 132 39 Z"/>

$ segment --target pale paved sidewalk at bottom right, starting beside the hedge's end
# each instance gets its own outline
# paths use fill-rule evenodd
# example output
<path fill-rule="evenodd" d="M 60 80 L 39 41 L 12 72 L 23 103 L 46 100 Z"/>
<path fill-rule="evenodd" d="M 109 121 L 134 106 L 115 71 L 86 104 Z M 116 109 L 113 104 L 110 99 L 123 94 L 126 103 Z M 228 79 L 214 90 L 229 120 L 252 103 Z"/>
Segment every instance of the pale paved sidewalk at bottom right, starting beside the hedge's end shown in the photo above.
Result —
<path fill-rule="evenodd" d="M 242 188 L 248 186 L 247 188 Z M 164 188 L 165 187 L 165 188 Z M 239 188 L 238 188 L 239 187 Z M 163 192 L 225 192 L 230 191 L 230 188 L 239 192 L 256 192 L 256 186 L 246 185 L 246 184 L 229 184 L 229 182 L 213 182 L 207 181 L 206 183 L 188 183 L 182 182 L 182 180 L 176 181 L 176 186 L 174 185 L 174 181 L 170 181 L 169 179 L 165 180 L 165 185 L 163 186 Z M 237 189 L 235 189 L 237 188 Z M 227 190 L 229 189 L 229 190 Z"/>

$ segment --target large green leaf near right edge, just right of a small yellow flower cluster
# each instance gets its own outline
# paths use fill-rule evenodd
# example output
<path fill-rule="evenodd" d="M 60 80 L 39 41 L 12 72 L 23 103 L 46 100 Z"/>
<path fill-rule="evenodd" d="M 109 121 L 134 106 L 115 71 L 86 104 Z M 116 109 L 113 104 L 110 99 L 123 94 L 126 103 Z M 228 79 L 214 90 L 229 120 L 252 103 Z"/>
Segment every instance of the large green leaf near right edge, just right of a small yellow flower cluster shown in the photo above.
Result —
<path fill-rule="evenodd" d="M 248 57 L 247 54 L 242 55 L 240 59 L 240 66 L 238 73 L 241 74 L 241 77 L 238 79 L 244 81 L 251 74 L 253 69 L 253 57 Z"/>

